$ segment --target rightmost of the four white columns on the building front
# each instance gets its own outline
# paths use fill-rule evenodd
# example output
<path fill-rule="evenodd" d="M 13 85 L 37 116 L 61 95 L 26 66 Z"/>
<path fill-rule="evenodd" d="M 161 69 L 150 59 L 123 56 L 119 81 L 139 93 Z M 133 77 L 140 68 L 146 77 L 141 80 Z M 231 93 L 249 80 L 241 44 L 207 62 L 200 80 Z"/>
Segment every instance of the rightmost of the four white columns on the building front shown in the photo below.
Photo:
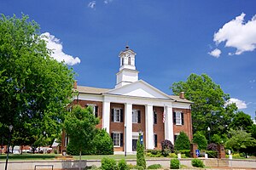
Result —
<path fill-rule="evenodd" d="M 173 139 L 173 118 L 172 118 L 172 106 L 168 105 L 164 108 L 166 114 L 165 121 L 165 139 L 170 140 L 174 144 Z"/>

